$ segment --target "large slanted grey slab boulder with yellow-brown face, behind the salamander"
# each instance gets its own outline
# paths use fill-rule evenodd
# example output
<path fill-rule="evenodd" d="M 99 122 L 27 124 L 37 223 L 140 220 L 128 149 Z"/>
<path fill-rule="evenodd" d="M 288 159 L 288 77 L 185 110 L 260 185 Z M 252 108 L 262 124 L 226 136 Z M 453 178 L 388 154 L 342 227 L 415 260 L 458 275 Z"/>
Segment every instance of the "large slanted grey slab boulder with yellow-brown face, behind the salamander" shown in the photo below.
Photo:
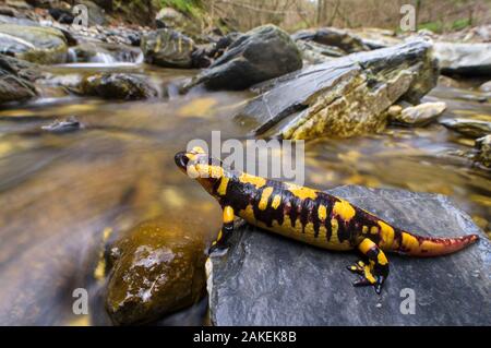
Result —
<path fill-rule="evenodd" d="M 376 132 L 399 99 L 414 104 L 435 84 L 431 44 L 352 53 L 311 65 L 258 86 L 261 94 L 237 119 L 256 124 L 255 134 L 284 139 L 348 137 Z"/>

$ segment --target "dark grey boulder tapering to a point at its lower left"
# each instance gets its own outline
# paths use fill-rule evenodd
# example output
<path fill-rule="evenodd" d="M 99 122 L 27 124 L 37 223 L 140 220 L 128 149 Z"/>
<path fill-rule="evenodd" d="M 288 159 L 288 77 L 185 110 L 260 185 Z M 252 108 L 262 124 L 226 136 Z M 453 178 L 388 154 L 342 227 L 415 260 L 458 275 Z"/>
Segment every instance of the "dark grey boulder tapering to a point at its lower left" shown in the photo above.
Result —
<path fill-rule="evenodd" d="M 241 34 L 183 89 L 199 84 L 212 89 L 243 89 L 301 67 L 300 51 L 289 35 L 277 26 L 264 25 Z"/>

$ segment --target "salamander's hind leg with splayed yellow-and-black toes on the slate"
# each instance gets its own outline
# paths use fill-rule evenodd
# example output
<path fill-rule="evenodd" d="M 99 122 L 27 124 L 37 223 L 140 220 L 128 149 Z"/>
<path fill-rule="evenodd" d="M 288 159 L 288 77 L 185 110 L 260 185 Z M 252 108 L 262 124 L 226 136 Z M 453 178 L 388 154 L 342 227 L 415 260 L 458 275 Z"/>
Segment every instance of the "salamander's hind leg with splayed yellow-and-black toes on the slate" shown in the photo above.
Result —
<path fill-rule="evenodd" d="M 373 286 L 380 293 L 388 276 L 388 260 L 384 252 L 370 239 L 363 239 L 358 244 L 359 251 L 367 256 L 368 262 L 359 261 L 348 269 L 360 275 L 354 286 Z"/>

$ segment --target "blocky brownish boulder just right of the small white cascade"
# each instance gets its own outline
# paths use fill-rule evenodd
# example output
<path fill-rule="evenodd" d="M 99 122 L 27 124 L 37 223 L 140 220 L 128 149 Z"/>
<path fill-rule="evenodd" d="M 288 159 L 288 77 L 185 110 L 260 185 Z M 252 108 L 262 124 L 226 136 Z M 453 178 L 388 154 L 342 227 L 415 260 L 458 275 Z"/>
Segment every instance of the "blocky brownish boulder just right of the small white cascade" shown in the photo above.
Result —
<path fill-rule="evenodd" d="M 158 29 L 142 37 L 145 61 L 165 68 L 191 68 L 194 41 L 172 29 Z"/>

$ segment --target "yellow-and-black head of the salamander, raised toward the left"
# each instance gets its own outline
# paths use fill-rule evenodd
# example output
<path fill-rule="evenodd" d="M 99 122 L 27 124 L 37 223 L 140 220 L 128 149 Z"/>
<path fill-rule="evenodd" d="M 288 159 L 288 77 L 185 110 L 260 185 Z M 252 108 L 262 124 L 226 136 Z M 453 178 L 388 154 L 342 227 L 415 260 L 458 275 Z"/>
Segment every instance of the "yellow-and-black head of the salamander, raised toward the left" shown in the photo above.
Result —
<path fill-rule="evenodd" d="M 211 194 L 214 194 L 215 183 L 225 175 L 219 159 L 208 156 L 203 148 L 196 146 L 190 152 L 179 152 L 175 156 L 176 165 L 190 178 L 197 182 Z"/>

